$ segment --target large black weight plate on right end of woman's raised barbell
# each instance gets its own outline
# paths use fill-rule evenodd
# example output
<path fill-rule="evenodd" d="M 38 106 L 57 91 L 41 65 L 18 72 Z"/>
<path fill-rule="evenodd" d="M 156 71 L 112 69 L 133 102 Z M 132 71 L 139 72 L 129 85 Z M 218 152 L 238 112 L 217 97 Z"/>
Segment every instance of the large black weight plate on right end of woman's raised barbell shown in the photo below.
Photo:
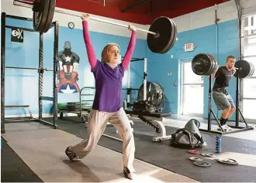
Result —
<path fill-rule="evenodd" d="M 159 36 L 147 34 L 147 46 L 153 53 L 166 53 L 171 49 L 171 42 L 175 39 L 175 30 L 173 29 L 171 19 L 161 16 L 154 20 L 150 25 L 149 31 L 159 33 Z"/>

